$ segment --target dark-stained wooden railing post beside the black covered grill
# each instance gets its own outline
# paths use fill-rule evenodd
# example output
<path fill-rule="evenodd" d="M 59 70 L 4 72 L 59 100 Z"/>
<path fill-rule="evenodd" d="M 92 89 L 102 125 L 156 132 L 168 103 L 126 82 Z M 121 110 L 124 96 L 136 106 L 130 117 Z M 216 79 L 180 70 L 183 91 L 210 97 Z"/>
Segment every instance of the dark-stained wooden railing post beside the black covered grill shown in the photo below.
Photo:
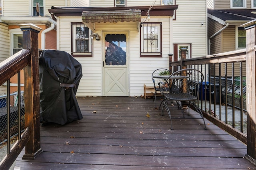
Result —
<path fill-rule="evenodd" d="M 40 93 L 38 33 L 41 28 L 32 24 L 20 25 L 23 49 L 30 49 L 30 64 L 24 68 L 25 128 L 30 127 L 30 140 L 23 159 L 34 159 L 42 152 L 40 146 Z"/>

